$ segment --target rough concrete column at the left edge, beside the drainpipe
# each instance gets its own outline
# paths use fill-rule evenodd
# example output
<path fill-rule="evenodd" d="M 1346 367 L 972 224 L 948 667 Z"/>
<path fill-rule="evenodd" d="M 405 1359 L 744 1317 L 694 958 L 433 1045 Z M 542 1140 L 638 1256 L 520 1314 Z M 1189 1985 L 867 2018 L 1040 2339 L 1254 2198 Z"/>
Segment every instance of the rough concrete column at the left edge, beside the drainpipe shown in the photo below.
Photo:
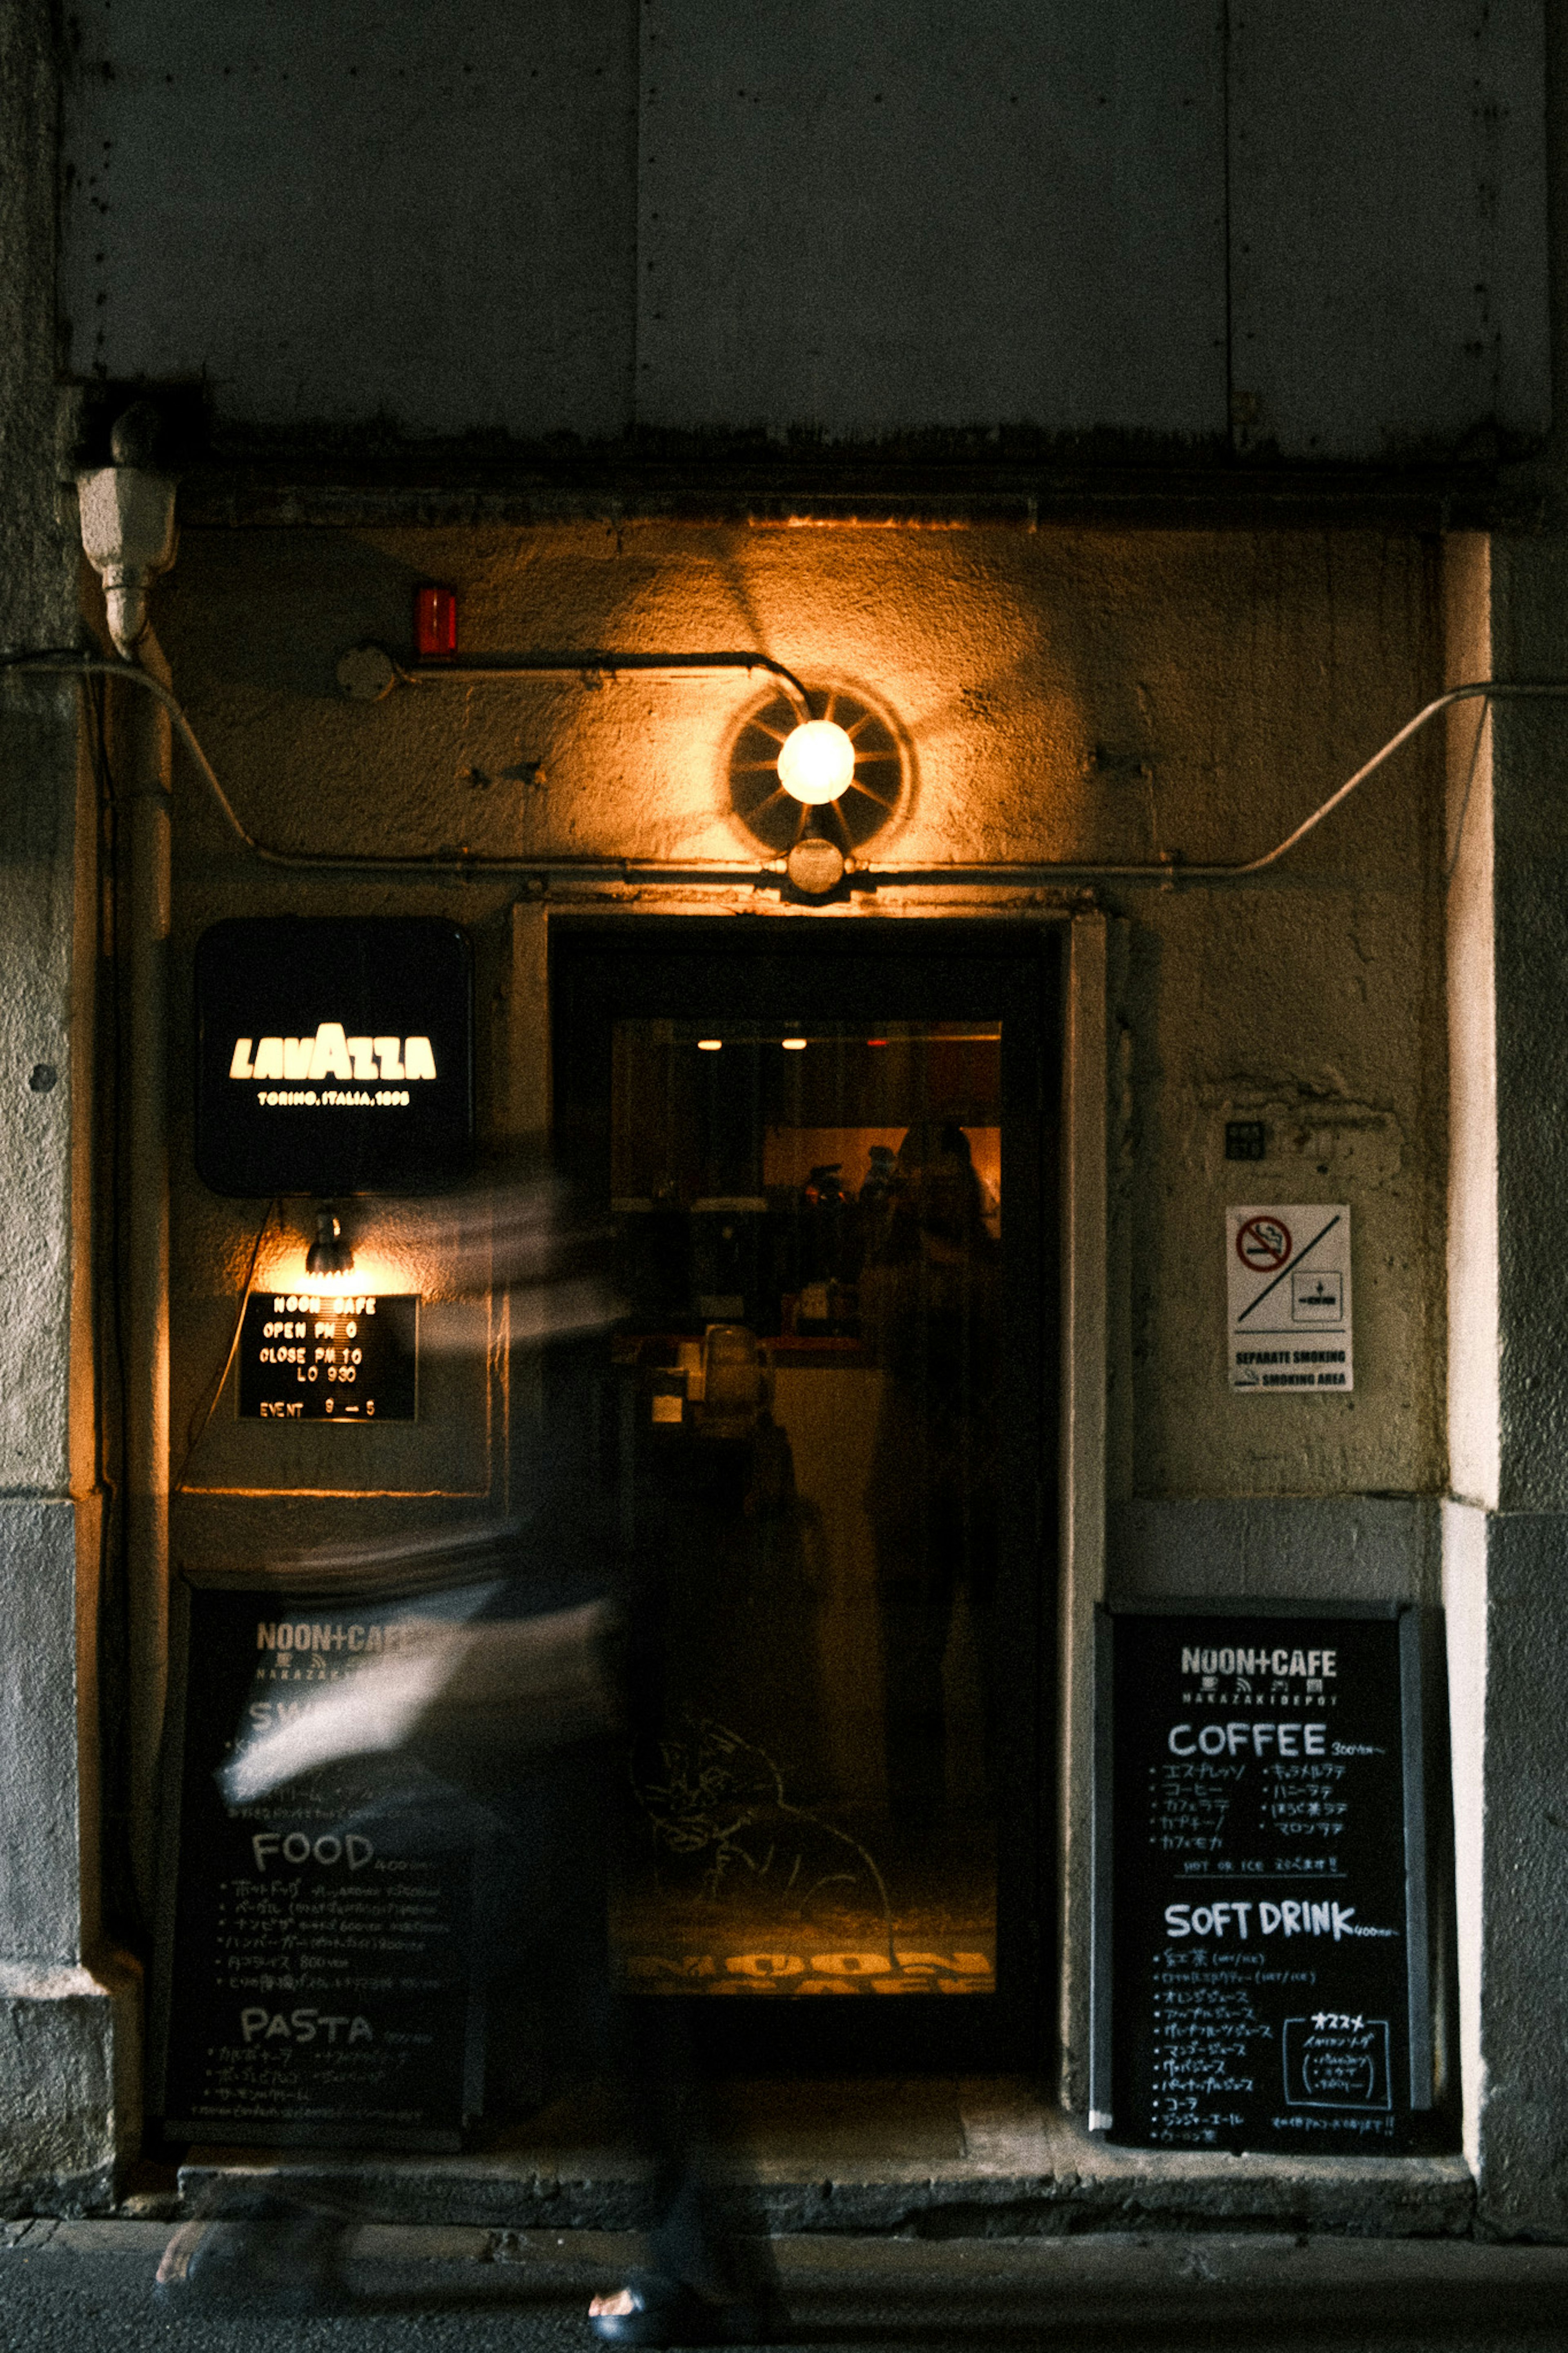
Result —
<path fill-rule="evenodd" d="M 54 31 L 0 12 L 0 652 L 73 645 L 54 452 Z M 92 776 L 78 689 L 0 675 L 0 2212 L 113 2195 L 136 2002 L 99 1948 Z"/>

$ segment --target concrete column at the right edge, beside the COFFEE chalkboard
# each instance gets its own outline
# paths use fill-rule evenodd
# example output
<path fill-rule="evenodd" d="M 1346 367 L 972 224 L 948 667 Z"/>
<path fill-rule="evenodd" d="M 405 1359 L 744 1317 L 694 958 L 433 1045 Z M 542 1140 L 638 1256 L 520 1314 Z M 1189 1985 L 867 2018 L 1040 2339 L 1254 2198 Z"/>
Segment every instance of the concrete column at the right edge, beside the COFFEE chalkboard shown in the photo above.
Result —
<path fill-rule="evenodd" d="M 1568 536 L 1448 548 L 1453 678 L 1568 675 Z M 1465 2146 L 1481 2217 L 1568 2238 L 1568 711 L 1450 729 L 1443 1593 Z M 1462 833 L 1460 833 L 1462 816 Z"/>

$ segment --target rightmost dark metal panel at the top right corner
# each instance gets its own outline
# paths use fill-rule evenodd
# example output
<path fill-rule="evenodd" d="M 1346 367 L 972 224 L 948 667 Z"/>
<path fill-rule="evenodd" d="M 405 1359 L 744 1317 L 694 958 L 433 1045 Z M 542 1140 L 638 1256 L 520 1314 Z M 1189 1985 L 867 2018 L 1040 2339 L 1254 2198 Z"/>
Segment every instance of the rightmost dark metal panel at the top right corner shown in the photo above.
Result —
<path fill-rule="evenodd" d="M 1542 0 L 1234 0 L 1229 89 L 1237 445 L 1542 433 Z"/>

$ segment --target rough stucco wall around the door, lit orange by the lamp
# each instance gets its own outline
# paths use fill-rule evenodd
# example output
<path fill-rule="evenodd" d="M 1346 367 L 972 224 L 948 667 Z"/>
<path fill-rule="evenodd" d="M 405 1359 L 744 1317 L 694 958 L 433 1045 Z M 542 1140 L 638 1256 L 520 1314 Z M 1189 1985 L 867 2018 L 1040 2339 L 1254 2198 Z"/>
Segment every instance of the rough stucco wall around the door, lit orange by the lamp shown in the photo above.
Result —
<path fill-rule="evenodd" d="M 877 864 L 1258 854 L 1427 699 L 1439 664 L 1432 551 L 1373 534 L 186 532 L 160 633 L 268 842 L 757 856 L 724 781 L 757 701 L 741 680 L 451 682 L 348 701 L 339 654 L 364 638 L 404 649 L 418 579 L 458 588 L 473 654 L 759 647 L 809 682 L 872 692 L 912 767 Z M 482 1016 L 498 1007 L 515 887 L 280 878 L 226 840 L 188 769 L 179 795 L 183 955 L 237 911 L 440 908 L 473 925 Z M 1110 892 L 1131 1052 L 1112 1264 L 1131 1334 L 1124 1492 L 1443 1482 L 1439 828 L 1439 751 L 1418 746 L 1255 887 Z M 778 913 L 771 894 L 750 904 Z M 491 1115 L 503 1080 L 487 1073 Z M 212 1271 L 237 1280 L 261 1207 L 195 1186 L 186 1096 L 176 1078 L 176 1431 L 226 1344 L 233 1287 Z M 1262 1165 L 1225 1162 L 1227 1118 L 1267 1122 Z M 1222 1209 L 1237 1200 L 1352 1202 L 1354 1395 L 1227 1393 Z M 397 1217 L 376 1219 L 395 1247 Z M 303 1228 L 289 1249 L 296 1264 Z M 240 1457 L 280 1461 L 280 1435 L 214 1426 L 193 1482 L 266 1485 Z M 353 1435 L 402 1464 L 371 1485 L 428 1485 L 416 1435 Z M 343 1433 L 292 1438 L 341 1447 Z"/>

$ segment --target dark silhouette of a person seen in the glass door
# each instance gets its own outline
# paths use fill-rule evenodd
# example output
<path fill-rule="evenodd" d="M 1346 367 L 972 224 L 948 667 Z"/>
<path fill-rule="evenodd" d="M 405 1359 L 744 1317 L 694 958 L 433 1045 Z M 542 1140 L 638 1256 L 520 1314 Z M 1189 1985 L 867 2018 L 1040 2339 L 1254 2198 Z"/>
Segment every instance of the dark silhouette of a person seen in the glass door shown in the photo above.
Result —
<path fill-rule="evenodd" d="M 1001 1249 L 954 1120 L 919 1122 L 898 1146 L 882 1231 L 860 1271 L 860 1315 L 886 1374 L 865 1511 L 877 1546 L 889 1809 L 919 1857 L 943 1817 L 943 1659 L 959 1591 L 980 1652 L 987 1751 L 997 1718 Z"/>

